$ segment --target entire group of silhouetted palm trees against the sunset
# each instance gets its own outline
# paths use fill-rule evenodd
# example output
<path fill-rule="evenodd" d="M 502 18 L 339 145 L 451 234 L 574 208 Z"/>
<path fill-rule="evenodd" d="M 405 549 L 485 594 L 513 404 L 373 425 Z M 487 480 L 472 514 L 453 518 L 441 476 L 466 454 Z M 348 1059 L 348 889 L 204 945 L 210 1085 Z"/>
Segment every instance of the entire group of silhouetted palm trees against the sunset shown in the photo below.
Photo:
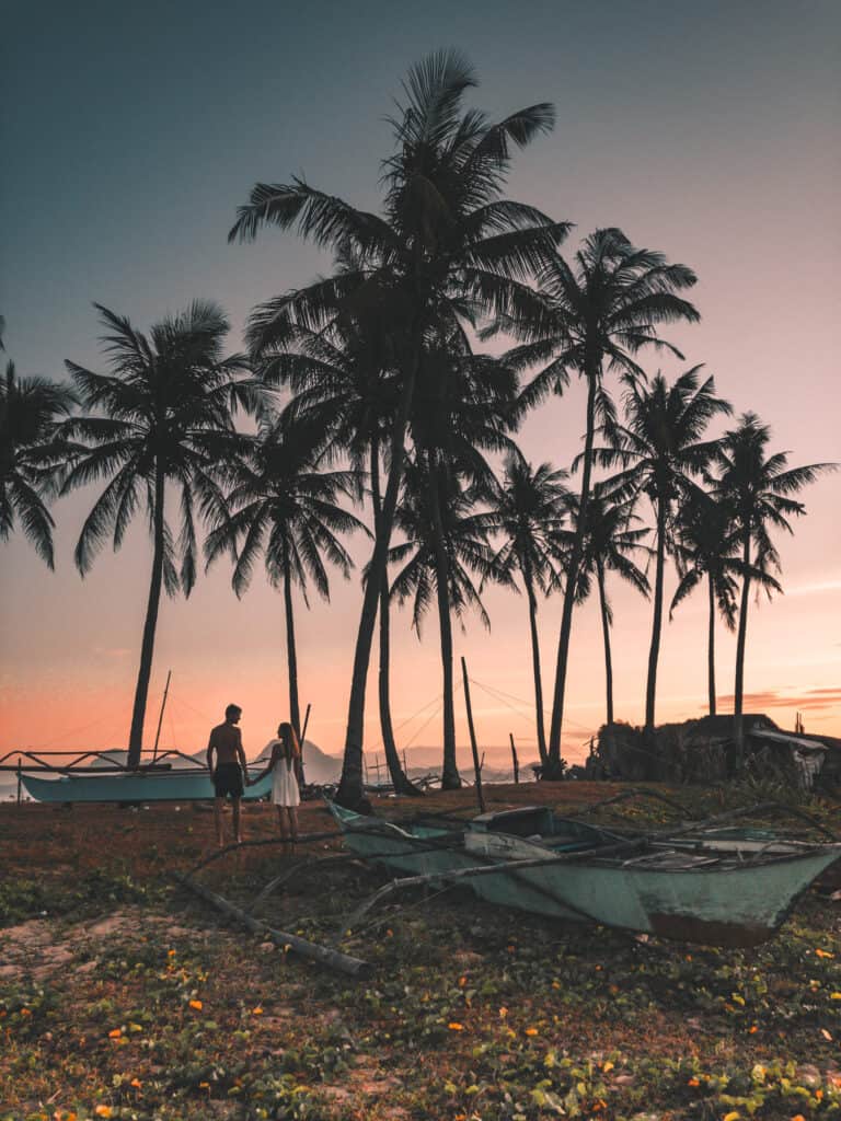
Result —
<path fill-rule="evenodd" d="M 788 518 L 803 512 L 792 495 L 826 465 L 788 469 L 784 454 L 768 454 L 768 429 L 752 414 L 709 438 L 710 423 L 731 411 L 712 378 L 702 380 L 695 367 L 669 385 L 644 370 L 646 350 L 683 359 L 660 332 L 699 318 L 685 298 L 694 274 L 616 229 L 595 231 L 565 257 L 570 223 L 503 194 L 515 151 L 552 129 L 552 105 L 491 121 L 464 105 L 475 84 L 456 52 L 434 54 L 409 72 L 391 121 L 379 213 L 303 179 L 255 186 L 230 240 L 252 240 L 267 226 L 294 229 L 329 249 L 335 265 L 331 275 L 259 305 L 246 354 L 225 354 L 229 324 L 213 304 L 193 304 L 148 335 L 99 307 L 109 373 L 67 362 L 73 392 L 7 374 L 2 536 L 17 516 L 52 566 L 45 503 L 96 481 L 107 484 L 76 546 L 83 574 L 107 538 L 119 548 L 137 512 L 151 528 L 130 765 L 140 758 L 161 590 L 188 594 L 196 578 L 196 519 L 207 528 L 206 564 L 228 554 L 238 595 L 260 562 L 283 590 L 298 732 L 293 587 L 305 602 L 311 585 L 327 597 L 327 567 L 345 577 L 352 567 L 343 535 L 372 537 L 339 790 L 345 805 L 362 796 L 364 695 L 378 620 L 383 747 L 396 788 L 413 793 L 389 710 L 394 601 L 410 601 L 418 632 L 427 610 L 437 617 L 445 787 L 460 784 L 453 623 L 474 609 L 489 626 L 482 593 L 491 582 L 525 591 L 546 778 L 560 777 L 564 766 L 573 611 L 593 584 L 613 721 L 609 574 L 653 596 L 646 725 L 654 726 L 667 556 L 680 574 L 673 609 L 697 584 L 708 586 L 711 712 L 715 618 L 730 627 L 738 620 L 740 726 L 749 592 L 779 586 L 769 529 L 791 528 Z M 496 336 L 508 341 L 505 353 L 477 350 Z M 561 397 L 574 374 L 586 387 L 586 413 L 573 492 L 566 472 L 533 467 L 514 436 L 528 410 Z M 238 430 L 238 411 L 256 418 L 256 432 Z M 650 530 L 640 516 L 646 500 Z M 364 501 L 368 526 L 348 509 Z M 547 734 L 537 610 L 555 592 L 563 609 Z"/>

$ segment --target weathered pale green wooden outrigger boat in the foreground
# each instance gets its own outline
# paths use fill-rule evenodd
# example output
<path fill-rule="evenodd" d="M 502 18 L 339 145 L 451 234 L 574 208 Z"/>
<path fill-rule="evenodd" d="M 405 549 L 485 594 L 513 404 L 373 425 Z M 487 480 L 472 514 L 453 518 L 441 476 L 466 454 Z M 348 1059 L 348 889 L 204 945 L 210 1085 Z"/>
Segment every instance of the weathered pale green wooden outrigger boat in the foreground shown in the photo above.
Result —
<path fill-rule="evenodd" d="M 352 851 L 376 852 L 380 863 L 409 873 L 407 884 L 417 877 L 463 880 L 491 904 L 705 945 L 765 942 L 841 859 L 841 843 L 751 830 L 708 834 L 703 823 L 628 836 L 546 807 L 450 826 L 375 825 L 376 818 L 331 810 Z M 429 845 L 440 851 L 420 851 Z"/>

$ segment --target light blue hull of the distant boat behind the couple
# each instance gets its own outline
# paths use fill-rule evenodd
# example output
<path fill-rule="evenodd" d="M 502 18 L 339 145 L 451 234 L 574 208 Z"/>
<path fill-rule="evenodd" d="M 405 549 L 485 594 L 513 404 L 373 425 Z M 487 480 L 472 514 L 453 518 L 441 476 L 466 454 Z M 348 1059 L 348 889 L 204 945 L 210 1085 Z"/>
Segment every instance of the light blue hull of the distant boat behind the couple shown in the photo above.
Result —
<path fill-rule="evenodd" d="M 75 804 L 77 802 L 206 802 L 214 797 L 213 782 L 206 771 L 138 771 L 118 775 L 64 775 L 62 778 L 38 778 L 22 773 L 20 780 L 38 802 Z M 249 802 L 271 791 L 271 776 L 246 787 Z"/>

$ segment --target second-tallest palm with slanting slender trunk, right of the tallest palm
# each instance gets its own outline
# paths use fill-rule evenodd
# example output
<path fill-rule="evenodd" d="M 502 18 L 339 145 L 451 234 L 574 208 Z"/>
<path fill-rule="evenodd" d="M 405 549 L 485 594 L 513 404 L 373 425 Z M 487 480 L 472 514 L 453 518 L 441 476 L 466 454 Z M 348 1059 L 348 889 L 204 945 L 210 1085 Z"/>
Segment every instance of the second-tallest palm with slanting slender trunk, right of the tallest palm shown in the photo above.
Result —
<path fill-rule="evenodd" d="M 532 407 L 548 393 L 562 393 L 574 370 L 586 382 L 586 432 L 583 471 L 579 497 L 580 519 L 569 559 L 569 577 L 558 636 L 557 665 L 553 692 L 546 778 L 560 778 L 561 730 L 564 693 L 572 636 L 572 612 L 577 587 L 577 572 L 584 550 L 586 507 L 590 500 L 592 448 L 597 420 L 612 415 L 604 389 L 607 373 L 639 377 L 643 371 L 635 355 L 645 346 L 680 351 L 658 335 L 658 326 L 700 316 L 692 304 L 677 293 L 695 284 L 694 272 L 685 265 L 669 265 L 662 253 L 635 249 L 620 230 L 597 230 L 584 241 L 573 265 L 556 253 L 538 270 L 540 291 L 551 302 L 548 330 L 533 330 L 530 323 L 514 317 L 500 325 L 524 345 L 507 359 L 518 369 L 536 364 L 544 369 L 523 393 L 523 407 Z"/>

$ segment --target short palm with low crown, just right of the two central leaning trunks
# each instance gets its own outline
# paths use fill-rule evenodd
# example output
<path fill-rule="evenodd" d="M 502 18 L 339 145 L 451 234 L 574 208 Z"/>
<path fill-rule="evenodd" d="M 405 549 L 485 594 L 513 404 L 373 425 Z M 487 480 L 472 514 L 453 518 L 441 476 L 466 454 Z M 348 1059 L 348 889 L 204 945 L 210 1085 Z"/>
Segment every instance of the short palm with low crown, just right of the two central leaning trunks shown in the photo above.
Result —
<path fill-rule="evenodd" d="M 413 600 L 412 626 L 418 638 L 426 610 L 437 604 L 443 676 L 444 761 L 442 789 L 461 786 L 455 761 L 455 717 L 453 689 L 452 617 L 461 620 L 468 608 L 475 608 L 484 627 L 490 619 L 481 601 L 472 573 L 481 583 L 488 580 L 508 582 L 493 559 L 488 543 L 492 517 L 474 510 L 474 492 L 464 490 L 452 475 L 434 475 L 431 485 L 427 463 L 406 469 L 403 502 L 396 525 L 406 540 L 389 550 L 389 560 L 401 565 L 391 584 L 391 595 L 403 604 Z M 440 548 L 446 554 L 446 585 L 441 587 Z M 463 623 L 462 623 L 463 627 Z"/>

